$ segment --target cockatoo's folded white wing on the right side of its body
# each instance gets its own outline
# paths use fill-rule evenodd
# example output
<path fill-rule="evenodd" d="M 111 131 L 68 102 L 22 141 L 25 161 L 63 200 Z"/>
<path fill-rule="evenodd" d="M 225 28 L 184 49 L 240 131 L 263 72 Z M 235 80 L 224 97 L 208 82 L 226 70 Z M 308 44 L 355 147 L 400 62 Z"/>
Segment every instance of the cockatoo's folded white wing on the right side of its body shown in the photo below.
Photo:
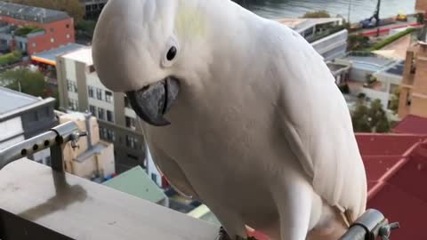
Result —
<path fill-rule="evenodd" d="M 318 195 L 356 220 L 365 212 L 367 180 L 346 102 L 318 52 L 290 28 L 272 26 L 286 140 Z"/>

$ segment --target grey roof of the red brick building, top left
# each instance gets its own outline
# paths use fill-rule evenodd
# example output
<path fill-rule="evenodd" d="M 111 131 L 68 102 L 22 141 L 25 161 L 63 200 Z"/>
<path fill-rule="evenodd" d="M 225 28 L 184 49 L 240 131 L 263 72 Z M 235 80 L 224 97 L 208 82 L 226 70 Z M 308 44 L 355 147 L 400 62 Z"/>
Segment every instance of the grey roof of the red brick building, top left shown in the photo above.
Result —
<path fill-rule="evenodd" d="M 26 20 L 38 23 L 51 23 L 69 18 L 66 12 L 23 4 L 6 3 L 4 1 L 0 1 L 0 16 L 7 16 L 16 20 Z"/>

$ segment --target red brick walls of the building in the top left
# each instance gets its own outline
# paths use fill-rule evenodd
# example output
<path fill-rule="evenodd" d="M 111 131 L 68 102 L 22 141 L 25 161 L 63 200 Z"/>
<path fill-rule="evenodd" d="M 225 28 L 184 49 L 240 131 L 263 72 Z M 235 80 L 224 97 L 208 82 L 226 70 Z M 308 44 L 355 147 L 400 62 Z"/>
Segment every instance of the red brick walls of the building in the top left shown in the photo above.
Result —
<path fill-rule="evenodd" d="M 28 54 L 30 55 L 36 52 L 44 52 L 46 50 L 57 48 L 60 45 L 76 43 L 74 20 L 72 18 L 46 24 L 32 21 L 15 20 L 4 16 L 0 17 L 0 20 L 4 20 L 9 24 L 14 24 L 16 26 L 33 25 L 44 28 L 44 35 L 28 38 Z M 69 38 L 67 36 L 69 36 Z M 33 44 L 36 45 L 34 46 Z"/>

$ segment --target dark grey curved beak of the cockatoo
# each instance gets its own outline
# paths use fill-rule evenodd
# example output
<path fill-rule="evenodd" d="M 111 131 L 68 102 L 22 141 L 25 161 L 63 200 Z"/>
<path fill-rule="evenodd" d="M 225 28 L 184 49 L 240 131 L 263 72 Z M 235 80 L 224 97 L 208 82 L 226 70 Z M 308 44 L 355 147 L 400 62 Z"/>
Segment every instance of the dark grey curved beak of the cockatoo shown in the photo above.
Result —
<path fill-rule="evenodd" d="M 165 126 L 171 124 L 165 114 L 172 107 L 180 92 L 180 83 L 173 76 L 150 84 L 138 91 L 126 92 L 135 113 L 147 124 Z"/>

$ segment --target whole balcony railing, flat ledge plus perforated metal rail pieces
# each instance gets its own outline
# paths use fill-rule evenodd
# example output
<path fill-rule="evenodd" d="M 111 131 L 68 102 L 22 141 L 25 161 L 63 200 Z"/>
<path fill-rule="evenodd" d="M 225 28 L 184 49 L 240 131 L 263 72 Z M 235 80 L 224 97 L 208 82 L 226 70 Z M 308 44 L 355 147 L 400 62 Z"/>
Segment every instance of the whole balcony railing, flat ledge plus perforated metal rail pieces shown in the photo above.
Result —
<path fill-rule="evenodd" d="M 63 172 L 64 144 L 83 135 L 68 122 L 0 151 L 0 239 L 217 238 L 217 226 Z M 52 168 L 22 159 L 44 148 Z M 369 210 L 340 240 L 386 240 L 397 227 Z"/>

